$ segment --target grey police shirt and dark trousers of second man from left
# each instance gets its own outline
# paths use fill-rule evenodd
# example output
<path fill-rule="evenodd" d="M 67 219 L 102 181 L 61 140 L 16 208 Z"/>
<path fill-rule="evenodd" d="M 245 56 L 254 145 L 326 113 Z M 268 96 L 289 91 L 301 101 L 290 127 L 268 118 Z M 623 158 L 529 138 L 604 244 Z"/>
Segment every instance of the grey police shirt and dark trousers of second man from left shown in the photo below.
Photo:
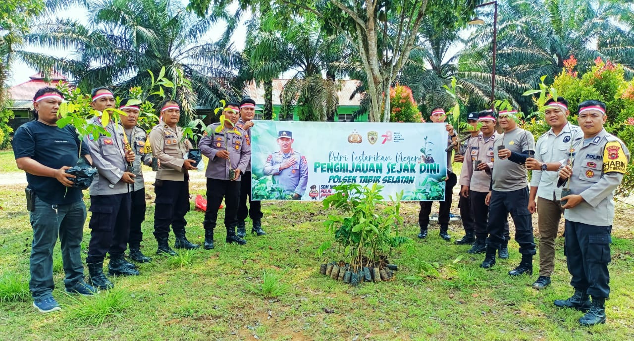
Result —
<path fill-rule="evenodd" d="M 102 124 L 100 117 L 94 117 L 89 123 Z M 103 262 L 107 253 L 111 257 L 123 255 L 130 233 L 132 186 L 120 181 L 127 170 L 123 127 L 111 121 L 105 130 L 110 136 L 84 138 L 98 171 L 90 186 L 89 211 L 93 214 L 88 223 L 91 233 L 87 263 Z"/>

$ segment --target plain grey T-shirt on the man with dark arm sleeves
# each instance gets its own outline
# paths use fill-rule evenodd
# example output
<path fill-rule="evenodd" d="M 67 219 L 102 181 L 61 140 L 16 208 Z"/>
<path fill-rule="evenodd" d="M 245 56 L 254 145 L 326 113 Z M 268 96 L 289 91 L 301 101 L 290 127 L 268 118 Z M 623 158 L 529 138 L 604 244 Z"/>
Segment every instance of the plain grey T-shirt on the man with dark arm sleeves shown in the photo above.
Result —
<path fill-rule="evenodd" d="M 493 190 L 510 192 L 521 190 L 528 186 L 527 172 L 524 165 L 516 164 L 505 158 L 498 157 L 498 146 L 504 145 L 508 150 L 515 153 L 523 151 L 534 151 L 535 140 L 531 132 L 517 127 L 509 132 L 503 132 L 493 143 L 494 164 L 493 168 Z"/>

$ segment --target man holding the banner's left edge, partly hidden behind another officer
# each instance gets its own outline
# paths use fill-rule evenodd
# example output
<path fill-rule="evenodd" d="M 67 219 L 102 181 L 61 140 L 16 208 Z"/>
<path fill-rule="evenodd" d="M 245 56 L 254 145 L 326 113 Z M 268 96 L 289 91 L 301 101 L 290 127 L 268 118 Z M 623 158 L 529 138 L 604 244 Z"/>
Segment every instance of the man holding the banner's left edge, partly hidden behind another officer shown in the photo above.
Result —
<path fill-rule="evenodd" d="M 244 129 L 247 134 L 245 135 L 245 141 L 247 145 L 251 145 L 251 127 L 253 126 L 253 117 L 256 113 L 256 101 L 245 98 L 240 102 L 240 120 L 238 120 L 238 127 Z M 247 164 L 247 170 L 242 175 L 240 180 L 240 204 L 238 205 L 238 232 L 236 235 L 240 238 L 244 238 L 247 234 L 244 220 L 247 216 L 251 217 L 253 227 L 252 233 L 258 236 L 266 235 L 266 232 L 262 229 L 262 206 L 259 200 L 251 200 L 251 159 L 249 158 L 249 164 Z M 247 198 L 249 198 L 249 207 L 247 207 Z"/>

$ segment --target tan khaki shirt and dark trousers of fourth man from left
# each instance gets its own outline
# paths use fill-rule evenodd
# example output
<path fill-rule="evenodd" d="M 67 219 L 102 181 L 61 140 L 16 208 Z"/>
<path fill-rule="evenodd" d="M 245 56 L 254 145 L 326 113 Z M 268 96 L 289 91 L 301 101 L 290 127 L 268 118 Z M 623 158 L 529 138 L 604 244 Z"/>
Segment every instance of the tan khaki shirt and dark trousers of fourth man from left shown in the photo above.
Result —
<path fill-rule="evenodd" d="M 154 236 L 167 238 L 170 224 L 174 233 L 184 231 L 187 225 L 184 217 L 190 210 L 190 177 L 183 165 L 191 143 L 183 138 L 181 127 L 172 128 L 163 121 L 152 128 L 149 138 L 152 155 L 160 162 L 154 183 Z"/>

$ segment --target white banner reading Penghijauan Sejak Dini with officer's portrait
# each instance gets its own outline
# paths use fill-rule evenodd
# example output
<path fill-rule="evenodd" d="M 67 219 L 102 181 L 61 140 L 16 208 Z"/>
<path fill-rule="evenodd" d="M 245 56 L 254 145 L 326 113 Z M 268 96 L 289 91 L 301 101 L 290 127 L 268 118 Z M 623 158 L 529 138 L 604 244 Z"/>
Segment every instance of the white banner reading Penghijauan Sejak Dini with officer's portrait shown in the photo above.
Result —
<path fill-rule="evenodd" d="M 378 183 L 386 199 L 444 200 L 445 124 L 254 123 L 253 200 L 323 200 L 342 183 Z"/>

